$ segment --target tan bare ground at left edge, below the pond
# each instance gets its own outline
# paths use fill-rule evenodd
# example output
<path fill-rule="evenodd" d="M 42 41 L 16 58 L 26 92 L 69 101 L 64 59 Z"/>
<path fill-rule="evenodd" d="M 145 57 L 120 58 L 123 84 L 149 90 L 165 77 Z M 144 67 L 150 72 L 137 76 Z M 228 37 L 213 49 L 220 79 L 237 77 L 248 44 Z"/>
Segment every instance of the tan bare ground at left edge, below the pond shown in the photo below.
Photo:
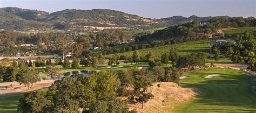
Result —
<path fill-rule="evenodd" d="M 40 82 L 36 82 L 36 84 L 33 84 L 33 87 L 30 89 L 28 89 L 28 87 L 24 87 L 24 85 L 19 85 L 18 82 L 3 82 L 0 83 L 0 97 L 10 96 L 14 94 L 22 94 L 29 91 L 48 88 L 53 82 L 53 80 L 41 80 Z M 5 86 L 8 86 L 8 89 L 6 89 Z"/>

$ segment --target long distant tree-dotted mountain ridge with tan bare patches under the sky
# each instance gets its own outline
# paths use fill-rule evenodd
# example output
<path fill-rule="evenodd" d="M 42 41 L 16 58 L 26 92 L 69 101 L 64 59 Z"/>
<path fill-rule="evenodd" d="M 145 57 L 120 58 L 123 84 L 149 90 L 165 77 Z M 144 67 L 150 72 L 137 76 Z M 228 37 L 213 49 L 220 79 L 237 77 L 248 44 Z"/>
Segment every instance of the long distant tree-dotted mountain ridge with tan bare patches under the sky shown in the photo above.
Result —
<path fill-rule="evenodd" d="M 230 18 L 228 16 L 222 16 Z M 3 19 L 2 19 L 3 18 Z M 151 19 L 108 9 L 76 10 L 66 9 L 53 13 L 21 9 L 0 8 L 0 29 L 69 29 L 71 26 L 124 27 L 127 29 L 150 29 L 167 27 L 194 21 L 220 17 L 182 17 Z M 61 26 L 61 27 L 60 27 Z"/>

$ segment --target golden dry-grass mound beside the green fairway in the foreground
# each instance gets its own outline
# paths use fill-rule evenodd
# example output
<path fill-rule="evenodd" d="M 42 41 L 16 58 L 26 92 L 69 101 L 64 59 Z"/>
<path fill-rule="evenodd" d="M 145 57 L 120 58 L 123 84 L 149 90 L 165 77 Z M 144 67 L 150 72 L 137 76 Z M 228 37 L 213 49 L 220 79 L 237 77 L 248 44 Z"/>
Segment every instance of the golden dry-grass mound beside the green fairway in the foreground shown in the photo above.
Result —
<path fill-rule="evenodd" d="M 160 84 L 160 87 L 157 84 Z M 154 98 L 145 103 L 145 109 L 142 109 L 142 104 L 137 103 L 129 104 L 130 110 L 136 109 L 138 112 L 170 112 L 169 110 L 175 104 L 189 101 L 200 93 L 197 88 L 183 88 L 173 82 L 154 83 L 147 91 L 151 92 Z"/>

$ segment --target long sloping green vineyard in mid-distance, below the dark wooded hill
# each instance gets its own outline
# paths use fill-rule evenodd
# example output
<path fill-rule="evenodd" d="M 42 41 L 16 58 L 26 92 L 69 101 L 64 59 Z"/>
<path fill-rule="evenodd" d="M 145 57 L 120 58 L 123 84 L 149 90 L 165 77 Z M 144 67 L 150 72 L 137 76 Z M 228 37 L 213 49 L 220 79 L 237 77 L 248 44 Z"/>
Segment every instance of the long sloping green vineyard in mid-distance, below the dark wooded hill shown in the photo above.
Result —
<path fill-rule="evenodd" d="M 210 40 L 200 40 L 200 41 L 191 41 L 187 43 L 181 43 L 181 44 L 174 44 L 174 45 L 168 45 L 168 46 L 161 46 L 161 47 L 154 47 L 154 48 L 147 48 L 143 50 L 138 50 L 140 55 L 145 56 L 149 51 L 152 51 L 154 54 L 156 54 L 156 59 L 161 59 L 161 55 L 164 53 L 169 53 L 170 48 L 176 48 L 179 52 L 179 55 L 186 55 L 196 52 L 205 52 L 208 53 L 210 51 Z M 118 53 L 118 55 L 126 55 L 126 56 L 132 56 L 133 51 L 130 52 L 124 52 L 124 53 Z M 106 55 L 107 58 L 112 57 L 112 55 Z"/>

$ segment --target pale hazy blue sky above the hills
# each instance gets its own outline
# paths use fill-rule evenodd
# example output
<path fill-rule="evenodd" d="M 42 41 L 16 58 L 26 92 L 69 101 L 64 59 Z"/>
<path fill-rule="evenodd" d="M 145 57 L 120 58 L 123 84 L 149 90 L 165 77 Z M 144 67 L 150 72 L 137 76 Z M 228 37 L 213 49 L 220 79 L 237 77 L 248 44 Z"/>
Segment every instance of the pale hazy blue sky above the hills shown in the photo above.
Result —
<path fill-rule="evenodd" d="M 7 6 L 47 12 L 111 9 L 147 18 L 191 15 L 256 17 L 256 0 L 0 0 L 0 8 Z"/>

